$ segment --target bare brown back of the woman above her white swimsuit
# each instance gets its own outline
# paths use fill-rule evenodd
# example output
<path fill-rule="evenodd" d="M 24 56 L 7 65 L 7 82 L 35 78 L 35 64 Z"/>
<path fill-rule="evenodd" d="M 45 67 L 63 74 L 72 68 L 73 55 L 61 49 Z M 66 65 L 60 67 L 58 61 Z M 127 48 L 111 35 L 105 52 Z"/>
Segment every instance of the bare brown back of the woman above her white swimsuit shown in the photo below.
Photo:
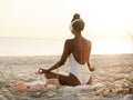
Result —
<path fill-rule="evenodd" d="M 84 64 L 90 58 L 91 42 L 83 37 L 74 38 L 71 40 L 71 48 L 74 59 Z"/>

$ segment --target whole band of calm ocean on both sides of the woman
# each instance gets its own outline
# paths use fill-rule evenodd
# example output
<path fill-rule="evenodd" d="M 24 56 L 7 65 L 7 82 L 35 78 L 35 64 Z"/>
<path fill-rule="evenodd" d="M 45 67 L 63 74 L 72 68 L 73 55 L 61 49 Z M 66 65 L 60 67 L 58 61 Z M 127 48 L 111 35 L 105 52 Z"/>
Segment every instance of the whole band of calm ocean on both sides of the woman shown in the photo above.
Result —
<path fill-rule="evenodd" d="M 65 39 L 0 38 L 0 56 L 59 56 Z M 133 53 L 133 41 L 92 41 L 92 54 Z"/>

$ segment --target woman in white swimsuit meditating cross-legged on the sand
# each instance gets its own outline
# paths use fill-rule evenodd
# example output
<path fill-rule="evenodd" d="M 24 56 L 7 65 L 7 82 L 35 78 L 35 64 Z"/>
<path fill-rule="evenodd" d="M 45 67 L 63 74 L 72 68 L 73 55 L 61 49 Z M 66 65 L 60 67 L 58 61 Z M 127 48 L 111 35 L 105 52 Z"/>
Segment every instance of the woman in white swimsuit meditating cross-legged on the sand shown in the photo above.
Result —
<path fill-rule="evenodd" d="M 94 68 L 90 67 L 91 41 L 82 37 L 81 31 L 84 29 L 84 21 L 80 19 L 80 14 L 75 13 L 71 21 L 70 30 L 74 36 L 73 39 L 65 40 L 64 50 L 59 62 L 50 69 L 40 68 L 38 73 L 44 73 L 47 79 L 58 78 L 63 86 L 91 84 L 92 78 L 90 71 Z M 70 59 L 71 68 L 69 76 L 62 76 L 51 72 L 63 66 L 66 59 Z"/>

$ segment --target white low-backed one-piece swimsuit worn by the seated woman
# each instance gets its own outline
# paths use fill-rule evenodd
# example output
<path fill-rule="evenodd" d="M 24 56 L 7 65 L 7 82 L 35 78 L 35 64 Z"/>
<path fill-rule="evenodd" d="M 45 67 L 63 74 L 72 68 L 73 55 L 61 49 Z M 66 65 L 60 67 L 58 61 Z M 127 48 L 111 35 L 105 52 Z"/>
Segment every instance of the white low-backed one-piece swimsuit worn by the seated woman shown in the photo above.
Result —
<path fill-rule="evenodd" d="M 70 72 L 79 79 L 81 84 L 86 84 L 90 79 L 90 70 L 88 68 L 88 64 L 80 64 L 74 59 L 72 53 L 70 54 L 69 60 L 71 64 Z"/>

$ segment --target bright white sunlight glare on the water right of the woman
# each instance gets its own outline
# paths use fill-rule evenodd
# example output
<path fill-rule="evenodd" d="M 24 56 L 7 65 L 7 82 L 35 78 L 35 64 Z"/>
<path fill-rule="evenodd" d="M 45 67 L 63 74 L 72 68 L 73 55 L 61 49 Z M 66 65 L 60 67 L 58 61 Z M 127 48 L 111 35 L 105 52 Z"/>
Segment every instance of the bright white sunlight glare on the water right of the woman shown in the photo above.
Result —
<path fill-rule="evenodd" d="M 92 53 L 101 54 L 115 54 L 130 52 L 130 46 L 127 41 L 119 40 L 99 40 L 93 42 Z"/>

